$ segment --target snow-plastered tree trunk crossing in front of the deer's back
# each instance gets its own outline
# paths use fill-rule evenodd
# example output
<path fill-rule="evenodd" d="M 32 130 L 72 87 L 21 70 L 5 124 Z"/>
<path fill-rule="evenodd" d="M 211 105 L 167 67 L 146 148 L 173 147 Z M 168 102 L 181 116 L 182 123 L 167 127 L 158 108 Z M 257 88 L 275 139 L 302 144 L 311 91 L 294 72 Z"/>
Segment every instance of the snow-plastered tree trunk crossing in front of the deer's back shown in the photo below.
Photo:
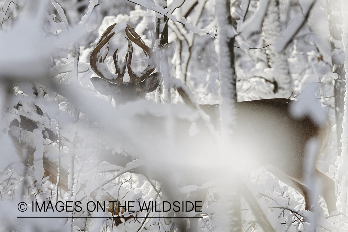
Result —
<path fill-rule="evenodd" d="M 216 1 L 216 16 L 219 25 L 219 74 L 221 86 L 221 128 L 222 135 L 226 141 L 230 141 L 235 125 L 235 103 L 237 102 L 236 70 L 234 57 L 234 41 L 237 34 L 230 13 L 229 0 Z M 240 216 L 240 195 L 237 184 L 232 184 L 227 199 L 227 222 L 220 225 L 220 229 L 242 232 L 242 221 Z M 219 226 L 219 225 L 218 225 Z"/>

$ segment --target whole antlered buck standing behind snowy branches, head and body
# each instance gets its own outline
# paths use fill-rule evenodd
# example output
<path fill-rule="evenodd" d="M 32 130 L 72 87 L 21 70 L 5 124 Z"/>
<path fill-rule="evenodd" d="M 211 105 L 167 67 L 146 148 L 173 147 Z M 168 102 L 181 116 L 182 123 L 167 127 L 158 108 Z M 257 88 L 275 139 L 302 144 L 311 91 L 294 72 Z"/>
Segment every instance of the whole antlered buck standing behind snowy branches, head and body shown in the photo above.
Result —
<path fill-rule="evenodd" d="M 92 70 L 100 77 L 93 77 L 91 81 L 97 91 L 103 95 L 113 95 L 116 103 L 120 104 L 143 98 L 146 93 L 155 90 L 161 74 L 151 74 L 156 67 L 155 54 L 129 25 L 126 28 L 128 52 L 124 64 L 117 63 L 116 50 L 113 60 L 117 74 L 105 72 L 107 70 L 103 68 L 105 57 L 99 58 L 98 53 L 113 36 L 114 33 L 110 35 L 109 33 L 114 26 L 115 24 L 111 25 L 104 32 L 90 56 Z M 140 46 L 150 58 L 150 64 L 141 74 L 133 72 L 131 68 L 133 51 L 131 41 Z M 123 82 L 126 67 L 130 76 L 129 82 Z M 238 152 L 242 152 L 247 160 L 249 159 L 259 166 L 266 166 L 272 174 L 302 194 L 305 209 L 310 210 L 317 199 L 311 199 L 312 190 L 306 184 L 306 146 L 311 138 L 318 139 L 320 148 L 317 158 L 325 147 L 323 144 L 329 134 L 330 123 L 319 126 L 308 116 L 301 119 L 293 118 L 290 112 L 293 103 L 293 100 L 284 98 L 237 102 L 237 126 L 234 139 L 235 144 L 240 146 L 236 149 Z M 200 105 L 200 108 L 210 116 L 215 128 L 219 127 L 219 106 Z M 314 170 L 314 175 L 320 181 L 321 192 L 319 194 L 325 199 L 327 209 L 331 214 L 336 210 L 335 183 L 317 168 Z"/>

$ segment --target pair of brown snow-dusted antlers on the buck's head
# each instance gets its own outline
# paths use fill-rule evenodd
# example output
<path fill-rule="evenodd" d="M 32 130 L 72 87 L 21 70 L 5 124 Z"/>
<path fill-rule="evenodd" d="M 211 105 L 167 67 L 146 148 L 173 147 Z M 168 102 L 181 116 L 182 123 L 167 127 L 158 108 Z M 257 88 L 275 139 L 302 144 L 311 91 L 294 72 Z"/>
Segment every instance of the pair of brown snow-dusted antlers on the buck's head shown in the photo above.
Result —
<path fill-rule="evenodd" d="M 127 42 L 128 42 L 128 51 L 127 51 L 126 57 L 124 59 L 124 62 L 122 64 L 118 64 L 118 62 L 117 62 L 118 49 L 116 49 L 116 51 L 114 52 L 114 54 L 112 56 L 114 64 L 115 64 L 117 76 L 110 73 L 108 67 L 103 63 L 105 60 L 105 57 L 107 56 L 107 54 L 109 52 L 109 48 L 108 48 L 108 51 L 107 51 L 105 57 L 99 58 L 100 50 L 102 49 L 102 47 L 105 46 L 106 43 L 109 42 L 111 37 L 115 34 L 115 32 L 113 32 L 109 35 L 109 33 L 112 31 L 112 29 L 114 28 L 115 25 L 116 25 L 116 23 L 109 26 L 108 29 L 105 30 L 101 39 L 99 40 L 96 47 L 92 51 L 92 54 L 90 55 L 90 58 L 89 58 L 90 66 L 91 66 L 92 70 L 99 77 L 101 77 L 102 79 L 107 80 L 111 83 L 117 83 L 117 84 L 120 84 L 123 82 L 123 76 L 126 73 L 126 67 L 127 67 L 128 74 L 130 77 L 130 82 L 140 83 L 143 80 L 145 80 L 145 78 L 147 78 L 155 70 L 156 57 L 155 57 L 155 53 L 153 53 L 153 51 L 144 43 L 144 41 L 141 39 L 140 35 L 138 35 L 135 32 L 134 28 L 130 27 L 128 24 L 126 27 L 126 35 L 128 37 L 128 38 L 126 37 Z M 148 56 L 149 60 L 150 60 L 148 66 L 141 73 L 134 72 L 132 70 L 132 67 L 131 67 L 132 66 L 132 55 L 133 55 L 132 42 L 134 42 L 136 45 L 138 45 L 140 48 L 142 48 L 145 55 Z"/>

